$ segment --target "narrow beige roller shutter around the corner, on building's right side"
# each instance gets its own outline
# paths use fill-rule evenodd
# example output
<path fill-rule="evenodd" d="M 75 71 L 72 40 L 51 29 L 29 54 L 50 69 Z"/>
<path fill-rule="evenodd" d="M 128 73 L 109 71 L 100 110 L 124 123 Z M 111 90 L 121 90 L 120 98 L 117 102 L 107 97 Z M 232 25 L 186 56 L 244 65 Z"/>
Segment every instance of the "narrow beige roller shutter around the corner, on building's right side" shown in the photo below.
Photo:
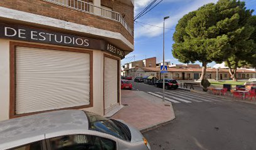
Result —
<path fill-rule="evenodd" d="M 104 100 L 105 114 L 117 104 L 117 60 L 105 57 Z"/>

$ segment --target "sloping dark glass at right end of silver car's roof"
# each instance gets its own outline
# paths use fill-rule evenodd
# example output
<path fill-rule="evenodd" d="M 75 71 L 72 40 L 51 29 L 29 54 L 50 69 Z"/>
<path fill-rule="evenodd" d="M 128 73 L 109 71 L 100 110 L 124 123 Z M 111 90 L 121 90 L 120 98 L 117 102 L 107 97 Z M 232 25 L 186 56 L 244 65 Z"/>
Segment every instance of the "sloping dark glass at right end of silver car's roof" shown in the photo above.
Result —
<path fill-rule="evenodd" d="M 110 119 L 90 112 L 85 112 L 85 114 L 87 114 L 90 130 L 110 134 L 125 141 L 131 141 L 131 138 L 129 138 L 131 137 L 131 133 L 129 136 L 124 128 L 120 128 L 120 125 L 117 126 L 117 124 Z"/>

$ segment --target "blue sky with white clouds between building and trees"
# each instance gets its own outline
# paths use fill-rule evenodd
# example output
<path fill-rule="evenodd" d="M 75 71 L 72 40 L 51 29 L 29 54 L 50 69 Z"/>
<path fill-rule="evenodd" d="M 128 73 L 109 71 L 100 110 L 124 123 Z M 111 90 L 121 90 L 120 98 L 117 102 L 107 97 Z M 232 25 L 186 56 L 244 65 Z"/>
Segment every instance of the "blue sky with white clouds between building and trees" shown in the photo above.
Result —
<path fill-rule="evenodd" d="M 152 1 L 153 0 L 134 0 L 134 16 L 146 8 Z M 134 22 L 134 51 L 125 56 L 121 64 L 134 61 L 134 56 L 136 61 L 156 56 L 157 63 L 163 62 L 163 28 L 161 27 L 163 27 L 163 18 L 165 16 L 169 16 L 169 19 L 165 20 L 166 29 L 164 31 L 165 61 L 171 61 L 173 64 L 182 64 L 178 59 L 175 59 L 172 54 L 172 44 L 174 43 L 173 33 L 176 24 L 184 14 L 195 11 L 204 4 L 216 1 L 217 0 L 163 0 L 154 9 L 137 19 L 137 22 Z M 247 9 L 255 9 L 256 11 L 256 0 L 243 1 L 245 1 Z M 253 15 L 256 15 L 256 12 L 253 12 Z M 195 64 L 201 65 L 199 62 Z M 208 66 L 213 65 L 215 65 L 214 62 L 208 64 Z"/>

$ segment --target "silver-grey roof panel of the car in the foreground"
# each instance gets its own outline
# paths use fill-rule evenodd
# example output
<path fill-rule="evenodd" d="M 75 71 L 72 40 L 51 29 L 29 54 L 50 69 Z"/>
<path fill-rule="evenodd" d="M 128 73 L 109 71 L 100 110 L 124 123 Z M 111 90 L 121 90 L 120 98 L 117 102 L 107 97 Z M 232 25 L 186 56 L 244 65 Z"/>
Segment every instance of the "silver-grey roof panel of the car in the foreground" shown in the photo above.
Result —
<path fill-rule="evenodd" d="M 0 121 L 0 127 L 0 149 L 8 149 L 45 139 L 46 134 L 88 131 L 88 119 L 82 110 L 63 110 Z"/>

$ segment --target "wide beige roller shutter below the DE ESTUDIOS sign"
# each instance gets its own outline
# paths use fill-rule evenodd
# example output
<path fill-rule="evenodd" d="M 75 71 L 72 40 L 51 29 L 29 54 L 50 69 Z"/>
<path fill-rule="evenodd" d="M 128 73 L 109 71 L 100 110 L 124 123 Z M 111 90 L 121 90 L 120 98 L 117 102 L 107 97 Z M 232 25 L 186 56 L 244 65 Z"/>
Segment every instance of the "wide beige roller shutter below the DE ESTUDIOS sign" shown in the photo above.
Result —
<path fill-rule="evenodd" d="M 90 104 L 90 54 L 16 47 L 16 114 Z"/>

